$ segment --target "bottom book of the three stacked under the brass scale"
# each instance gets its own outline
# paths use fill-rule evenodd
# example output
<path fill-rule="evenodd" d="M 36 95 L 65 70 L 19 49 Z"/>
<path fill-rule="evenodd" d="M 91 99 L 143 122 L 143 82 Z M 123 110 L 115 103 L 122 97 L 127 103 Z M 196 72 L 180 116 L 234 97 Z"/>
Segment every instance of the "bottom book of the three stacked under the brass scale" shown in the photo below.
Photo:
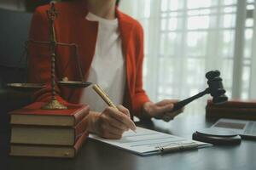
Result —
<path fill-rule="evenodd" d="M 87 132 L 82 133 L 73 146 L 11 144 L 9 155 L 73 158 L 78 154 L 87 136 Z"/>

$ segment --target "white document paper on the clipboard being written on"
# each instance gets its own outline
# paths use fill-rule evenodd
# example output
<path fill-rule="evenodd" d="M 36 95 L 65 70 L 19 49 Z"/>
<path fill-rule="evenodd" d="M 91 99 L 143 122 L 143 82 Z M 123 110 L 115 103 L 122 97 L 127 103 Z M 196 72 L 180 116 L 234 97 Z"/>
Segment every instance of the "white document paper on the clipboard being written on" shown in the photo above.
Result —
<path fill-rule="evenodd" d="M 137 133 L 127 131 L 121 139 L 103 139 L 95 134 L 90 134 L 90 139 L 112 144 L 124 150 L 130 150 L 139 155 L 161 153 L 164 150 L 176 151 L 183 149 L 196 149 L 210 144 L 195 140 L 183 139 L 171 134 L 160 133 L 143 127 L 137 127 Z"/>

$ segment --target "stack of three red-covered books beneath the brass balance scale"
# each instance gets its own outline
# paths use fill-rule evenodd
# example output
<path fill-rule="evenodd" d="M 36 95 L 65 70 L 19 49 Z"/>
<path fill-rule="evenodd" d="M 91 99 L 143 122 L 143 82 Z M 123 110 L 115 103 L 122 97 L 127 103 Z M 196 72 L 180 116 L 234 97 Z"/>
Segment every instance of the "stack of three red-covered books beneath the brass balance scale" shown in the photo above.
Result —
<path fill-rule="evenodd" d="M 67 110 L 42 110 L 35 102 L 11 111 L 11 156 L 68 157 L 77 155 L 87 138 L 87 105 L 67 105 Z"/>

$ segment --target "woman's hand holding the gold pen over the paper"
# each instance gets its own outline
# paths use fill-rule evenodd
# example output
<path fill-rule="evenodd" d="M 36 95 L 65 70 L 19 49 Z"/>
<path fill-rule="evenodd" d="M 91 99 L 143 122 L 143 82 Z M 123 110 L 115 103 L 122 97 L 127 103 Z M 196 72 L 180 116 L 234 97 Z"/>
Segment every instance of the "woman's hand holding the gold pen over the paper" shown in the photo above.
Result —
<path fill-rule="evenodd" d="M 102 113 L 90 111 L 88 117 L 89 131 L 106 139 L 120 139 L 122 134 L 136 126 L 131 120 L 130 112 L 124 106 L 118 106 L 119 111 L 107 107 Z"/>

